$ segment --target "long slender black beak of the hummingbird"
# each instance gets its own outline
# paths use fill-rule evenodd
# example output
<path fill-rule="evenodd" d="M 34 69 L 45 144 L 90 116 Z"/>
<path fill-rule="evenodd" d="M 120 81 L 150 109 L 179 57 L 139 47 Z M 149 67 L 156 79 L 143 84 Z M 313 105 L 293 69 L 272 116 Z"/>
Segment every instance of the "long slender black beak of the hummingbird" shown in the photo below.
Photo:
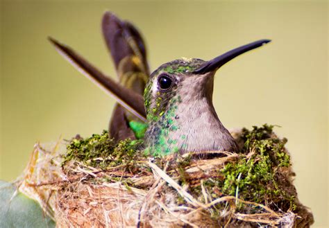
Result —
<path fill-rule="evenodd" d="M 214 71 L 219 69 L 219 67 L 223 66 L 223 64 L 226 64 L 226 62 L 233 60 L 233 58 L 237 57 L 238 55 L 241 55 L 247 51 L 251 51 L 253 49 L 256 49 L 263 44 L 267 44 L 271 42 L 271 40 L 258 40 L 255 42 L 252 42 L 250 44 L 246 44 L 244 46 L 239 46 L 236 49 L 233 49 L 231 51 L 228 51 L 224 53 L 223 55 L 219 55 L 216 58 L 209 60 L 208 62 L 205 62 L 201 65 L 198 69 L 194 71 L 194 73 L 203 74 L 210 71 Z"/>

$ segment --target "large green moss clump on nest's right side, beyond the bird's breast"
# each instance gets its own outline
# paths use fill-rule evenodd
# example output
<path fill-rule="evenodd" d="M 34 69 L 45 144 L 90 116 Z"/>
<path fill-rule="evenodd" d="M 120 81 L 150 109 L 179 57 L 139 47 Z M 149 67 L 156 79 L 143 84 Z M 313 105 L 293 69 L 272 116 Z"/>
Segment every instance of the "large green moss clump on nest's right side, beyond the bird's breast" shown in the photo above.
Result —
<path fill-rule="evenodd" d="M 234 195 L 242 200 L 280 208 L 283 211 L 296 208 L 295 194 L 285 189 L 287 177 L 282 169 L 287 169 L 290 157 L 285 150 L 287 139 L 279 139 L 273 134 L 273 125 L 242 130 L 246 156 L 237 162 L 228 163 L 221 169 L 223 181 L 209 183 L 221 188 L 221 193 Z"/>

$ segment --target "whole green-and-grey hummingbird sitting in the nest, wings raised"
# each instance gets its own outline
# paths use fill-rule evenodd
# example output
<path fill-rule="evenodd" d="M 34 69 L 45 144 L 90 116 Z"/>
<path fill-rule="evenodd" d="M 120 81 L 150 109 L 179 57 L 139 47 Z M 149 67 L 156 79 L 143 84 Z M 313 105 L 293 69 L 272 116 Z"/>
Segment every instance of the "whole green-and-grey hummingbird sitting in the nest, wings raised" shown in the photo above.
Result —
<path fill-rule="evenodd" d="M 133 24 L 106 12 L 102 28 L 120 82 L 103 74 L 69 46 L 49 40 L 71 64 L 117 100 L 110 121 L 111 137 L 142 138 L 145 151 L 155 157 L 239 150 L 214 109 L 214 75 L 223 64 L 271 40 L 239 46 L 208 61 L 174 60 L 149 74 L 144 41 Z"/>

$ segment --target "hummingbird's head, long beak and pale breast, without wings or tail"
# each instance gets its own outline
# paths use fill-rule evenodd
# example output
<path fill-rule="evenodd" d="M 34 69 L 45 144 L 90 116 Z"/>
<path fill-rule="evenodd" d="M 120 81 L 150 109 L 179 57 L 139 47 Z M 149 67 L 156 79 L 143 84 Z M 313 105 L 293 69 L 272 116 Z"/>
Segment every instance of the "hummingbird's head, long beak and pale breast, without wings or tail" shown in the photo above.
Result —
<path fill-rule="evenodd" d="M 212 105 L 214 74 L 226 62 L 269 40 L 241 46 L 210 61 L 181 59 L 162 64 L 144 90 L 146 148 L 152 155 L 177 152 L 237 151 Z"/>

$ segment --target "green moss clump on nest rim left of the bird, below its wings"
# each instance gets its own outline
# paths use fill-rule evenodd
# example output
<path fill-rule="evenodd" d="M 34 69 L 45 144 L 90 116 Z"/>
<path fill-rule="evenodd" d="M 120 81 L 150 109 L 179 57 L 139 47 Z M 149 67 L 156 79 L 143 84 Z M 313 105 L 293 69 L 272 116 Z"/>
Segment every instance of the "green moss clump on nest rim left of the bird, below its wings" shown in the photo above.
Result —
<path fill-rule="evenodd" d="M 116 144 L 109 139 L 106 130 L 102 134 L 92 134 L 92 137 L 87 139 L 72 139 L 67 145 L 62 165 L 72 159 L 102 169 L 129 164 L 144 157 L 140 152 L 142 142 L 126 139 Z"/>

